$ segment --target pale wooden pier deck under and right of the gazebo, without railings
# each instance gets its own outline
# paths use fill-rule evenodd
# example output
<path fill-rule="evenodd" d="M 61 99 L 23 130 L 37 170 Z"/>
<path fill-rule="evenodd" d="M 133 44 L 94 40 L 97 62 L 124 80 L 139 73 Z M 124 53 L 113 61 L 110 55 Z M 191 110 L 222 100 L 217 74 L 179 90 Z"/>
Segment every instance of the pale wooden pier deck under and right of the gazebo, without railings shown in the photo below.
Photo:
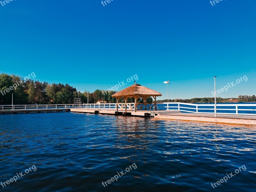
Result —
<path fill-rule="evenodd" d="M 98 110 L 85 109 L 85 108 L 72 108 L 71 112 L 78 113 L 94 113 L 94 114 L 108 114 L 108 115 L 124 115 L 124 116 L 140 116 L 150 117 L 154 116 L 156 119 L 170 119 L 170 120 L 185 120 L 185 121 L 198 121 L 198 122 L 212 122 L 222 124 L 243 124 L 243 125 L 256 125 L 256 116 L 252 115 L 225 115 L 217 114 L 205 114 L 205 113 L 181 113 L 179 111 L 163 110 L 158 111 L 155 114 L 151 114 L 150 111 L 139 110 L 139 111 L 116 111 L 115 109 Z"/>

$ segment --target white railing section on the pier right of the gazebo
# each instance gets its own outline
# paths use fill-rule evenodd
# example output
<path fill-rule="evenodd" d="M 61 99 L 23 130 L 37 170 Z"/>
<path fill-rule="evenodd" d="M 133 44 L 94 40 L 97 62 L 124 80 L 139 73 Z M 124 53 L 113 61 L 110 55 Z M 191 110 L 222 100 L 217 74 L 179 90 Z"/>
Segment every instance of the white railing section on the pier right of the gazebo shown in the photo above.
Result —
<path fill-rule="evenodd" d="M 214 114 L 214 104 L 194 104 L 194 103 L 164 103 L 167 104 L 166 110 L 183 111 L 190 113 L 209 113 Z M 175 105 L 175 106 L 174 106 Z M 185 107 L 186 106 L 186 107 Z M 210 107 L 210 108 L 205 108 Z M 224 107 L 224 108 L 221 108 Z M 171 108 L 171 109 L 170 109 Z M 190 110 L 189 110 L 190 109 Z M 256 104 L 217 104 L 217 114 L 228 115 L 256 115 L 256 113 L 239 113 L 239 111 L 256 111 Z M 210 112 L 213 111 L 213 112 Z M 234 113 L 218 112 L 218 111 L 234 111 Z"/>

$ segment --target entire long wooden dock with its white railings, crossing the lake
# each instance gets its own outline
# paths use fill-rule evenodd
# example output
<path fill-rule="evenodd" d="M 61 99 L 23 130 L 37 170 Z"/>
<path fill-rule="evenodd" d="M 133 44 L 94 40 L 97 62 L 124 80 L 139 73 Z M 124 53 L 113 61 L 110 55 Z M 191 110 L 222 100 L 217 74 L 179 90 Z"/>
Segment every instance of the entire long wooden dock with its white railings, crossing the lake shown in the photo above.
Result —
<path fill-rule="evenodd" d="M 176 105 L 171 107 L 170 105 Z M 138 104 L 138 108 L 135 112 L 135 103 L 127 103 L 128 108 L 125 112 L 125 104 L 118 103 L 118 111 L 116 111 L 116 104 L 82 104 L 77 108 L 72 104 L 53 104 L 53 105 L 5 105 L 0 106 L 0 115 L 1 114 L 20 114 L 20 113 L 51 113 L 51 112 L 77 112 L 77 113 L 92 113 L 92 114 L 104 114 L 104 115 L 120 115 L 120 116 L 137 116 L 137 117 L 151 117 L 155 119 L 169 119 L 169 120 L 183 120 L 183 121 L 196 121 L 196 122 L 210 122 L 210 123 L 221 123 L 221 124 L 240 124 L 240 125 L 256 125 L 256 114 L 243 114 L 244 111 L 255 111 L 256 109 L 244 109 L 245 104 L 229 104 L 228 109 L 219 109 L 218 110 L 234 110 L 236 113 L 217 113 L 215 117 L 214 113 L 203 113 L 202 110 L 205 110 L 205 106 L 212 106 L 209 104 L 202 105 L 199 104 L 183 104 L 183 103 L 169 103 L 167 105 L 167 110 L 154 110 L 151 107 L 151 110 L 145 110 Z M 191 108 L 184 105 L 195 105 Z M 224 105 L 219 105 L 224 106 Z M 232 108 L 233 106 L 233 108 Z M 242 107 L 240 107 L 242 106 Z M 256 104 L 250 104 L 254 107 Z M 218 107 L 218 105 L 217 105 Z M 177 108 L 169 109 L 168 108 Z M 191 111 L 188 111 L 191 110 Z M 194 112 L 193 112 L 194 110 Z M 209 109 L 212 110 L 212 109 Z M 227 111 L 223 111 L 227 112 Z"/>

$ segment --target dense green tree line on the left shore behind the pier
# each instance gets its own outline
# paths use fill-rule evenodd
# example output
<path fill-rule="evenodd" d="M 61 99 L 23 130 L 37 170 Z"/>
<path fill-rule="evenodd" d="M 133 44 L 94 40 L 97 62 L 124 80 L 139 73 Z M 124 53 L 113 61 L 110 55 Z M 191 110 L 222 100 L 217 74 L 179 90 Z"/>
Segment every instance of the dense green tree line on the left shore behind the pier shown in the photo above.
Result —
<path fill-rule="evenodd" d="M 17 84 L 18 86 L 13 86 Z M 11 105 L 13 93 L 13 104 L 73 104 L 74 98 L 81 98 L 82 103 L 96 103 L 97 101 L 107 101 L 116 103 L 116 98 L 111 95 L 116 91 L 95 90 L 94 92 L 79 92 L 69 84 L 49 84 L 46 82 L 34 81 L 32 79 L 21 79 L 19 76 L 0 74 L 0 104 Z M 149 97 L 147 102 L 152 102 Z M 124 103 L 124 98 L 118 102 Z M 134 102 L 133 98 L 128 98 L 127 102 Z M 143 102 L 142 98 L 138 102 Z"/>

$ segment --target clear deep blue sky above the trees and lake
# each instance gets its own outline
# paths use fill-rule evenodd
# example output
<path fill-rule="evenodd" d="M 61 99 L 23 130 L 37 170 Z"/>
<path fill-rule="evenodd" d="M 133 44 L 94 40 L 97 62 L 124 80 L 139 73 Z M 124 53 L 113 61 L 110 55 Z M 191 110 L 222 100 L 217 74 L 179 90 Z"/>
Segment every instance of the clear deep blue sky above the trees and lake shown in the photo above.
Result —
<path fill-rule="evenodd" d="M 16 0 L 0 4 L 0 73 L 90 92 L 137 74 L 169 98 L 256 94 L 256 0 Z M 126 84 L 121 89 L 132 85 Z M 121 90 L 120 89 L 120 90 Z"/>

